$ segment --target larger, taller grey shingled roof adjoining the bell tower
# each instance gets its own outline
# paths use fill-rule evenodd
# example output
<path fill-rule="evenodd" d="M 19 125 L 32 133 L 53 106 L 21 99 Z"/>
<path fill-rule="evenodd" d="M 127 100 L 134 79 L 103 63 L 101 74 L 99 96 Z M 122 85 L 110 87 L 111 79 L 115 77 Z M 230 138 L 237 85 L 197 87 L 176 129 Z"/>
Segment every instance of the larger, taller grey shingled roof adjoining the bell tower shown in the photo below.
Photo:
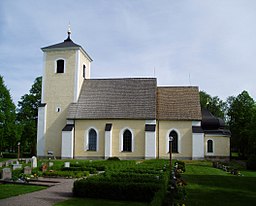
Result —
<path fill-rule="evenodd" d="M 68 119 L 156 119 L 156 79 L 84 80 Z"/>

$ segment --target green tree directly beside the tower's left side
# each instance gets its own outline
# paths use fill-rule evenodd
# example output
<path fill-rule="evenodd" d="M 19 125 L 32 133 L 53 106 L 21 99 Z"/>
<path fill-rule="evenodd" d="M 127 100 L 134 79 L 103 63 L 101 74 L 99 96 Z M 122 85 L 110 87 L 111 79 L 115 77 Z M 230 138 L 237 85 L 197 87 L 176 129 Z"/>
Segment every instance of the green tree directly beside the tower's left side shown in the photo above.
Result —
<path fill-rule="evenodd" d="M 29 90 L 18 102 L 18 122 L 22 128 L 21 150 L 36 154 L 38 106 L 41 102 L 42 77 L 37 77 Z"/>

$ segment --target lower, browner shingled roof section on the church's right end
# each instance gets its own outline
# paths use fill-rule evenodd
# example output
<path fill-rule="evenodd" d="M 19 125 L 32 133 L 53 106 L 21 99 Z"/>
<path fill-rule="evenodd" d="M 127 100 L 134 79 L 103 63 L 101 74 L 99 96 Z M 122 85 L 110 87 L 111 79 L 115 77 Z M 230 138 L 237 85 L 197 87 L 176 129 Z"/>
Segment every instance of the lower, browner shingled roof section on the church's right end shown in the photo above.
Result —
<path fill-rule="evenodd" d="M 201 120 L 198 87 L 158 87 L 157 119 Z"/>

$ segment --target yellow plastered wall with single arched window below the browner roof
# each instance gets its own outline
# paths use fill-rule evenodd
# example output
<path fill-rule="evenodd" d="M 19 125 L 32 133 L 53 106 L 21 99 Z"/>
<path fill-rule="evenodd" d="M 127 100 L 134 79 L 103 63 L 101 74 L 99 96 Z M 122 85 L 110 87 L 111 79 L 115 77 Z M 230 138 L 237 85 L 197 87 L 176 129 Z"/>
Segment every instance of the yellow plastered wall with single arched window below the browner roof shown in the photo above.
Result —
<path fill-rule="evenodd" d="M 191 121 L 159 121 L 159 157 L 169 158 L 169 133 L 174 130 L 178 134 L 178 153 L 173 158 L 192 157 L 192 122 Z"/>

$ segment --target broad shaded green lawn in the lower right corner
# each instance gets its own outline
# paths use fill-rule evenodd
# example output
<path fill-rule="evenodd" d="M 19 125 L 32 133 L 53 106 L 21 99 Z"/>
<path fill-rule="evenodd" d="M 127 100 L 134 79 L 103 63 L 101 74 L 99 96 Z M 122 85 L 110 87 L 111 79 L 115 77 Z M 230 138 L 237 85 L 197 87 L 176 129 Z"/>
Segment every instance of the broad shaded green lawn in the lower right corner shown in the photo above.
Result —
<path fill-rule="evenodd" d="M 210 162 L 186 162 L 182 175 L 187 182 L 185 205 L 256 205 L 256 172 L 233 176 L 213 168 Z"/>

